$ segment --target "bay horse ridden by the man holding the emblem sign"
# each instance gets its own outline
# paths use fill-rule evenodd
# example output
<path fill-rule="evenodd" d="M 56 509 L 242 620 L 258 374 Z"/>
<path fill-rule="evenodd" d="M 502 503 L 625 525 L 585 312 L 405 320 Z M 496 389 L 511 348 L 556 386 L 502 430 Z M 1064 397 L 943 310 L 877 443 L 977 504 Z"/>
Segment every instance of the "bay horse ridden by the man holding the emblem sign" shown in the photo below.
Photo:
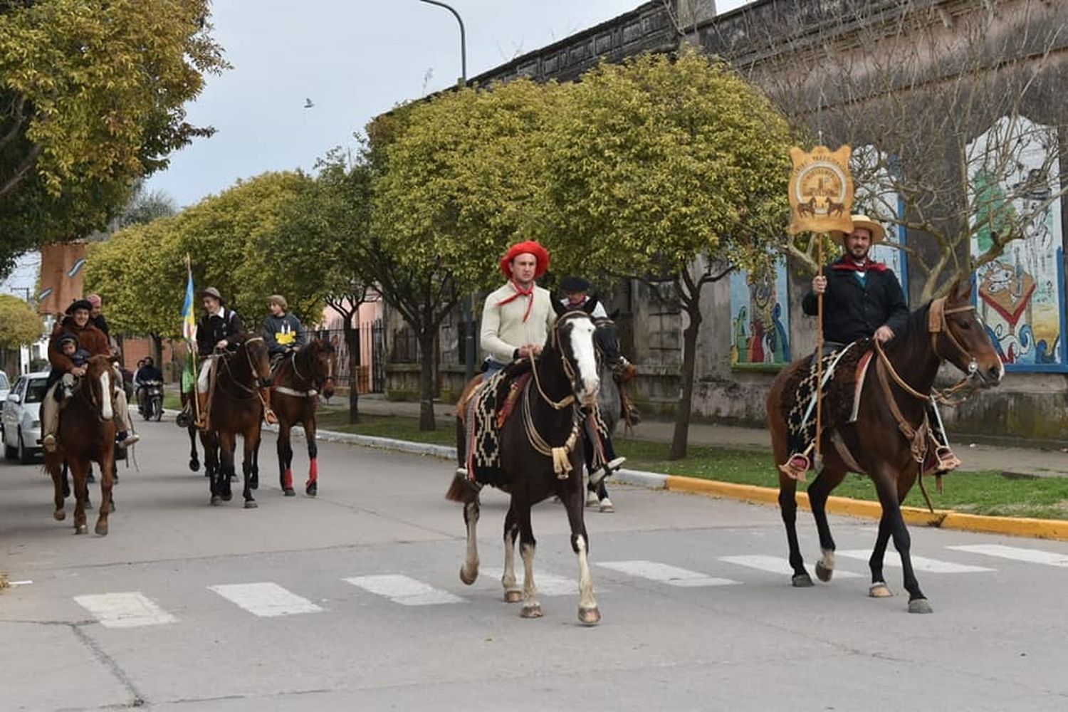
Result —
<path fill-rule="evenodd" d="M 861 387 L 857 418 L 824 429 L 821 438 L 823 465 L 808 487 L 808 502 L 822 550 L 822 556 L 816 564 L 816 575 L 820 581 L 828 582 L 834 572 L 835 545 L 827 522 L 827 497 L 847 472 L 865 473 L 871 478 L 882 506 L 882 517 L 868 559 L 871 571 L 868 595 L 873 598 L 892 595 L 882 567 L 886 543 L 893 537 L 894 548 L 901 557 L 905 588 L 909 591 L 909 613 L 931 612 L 912 569 L 911 540 L 901 516 L 901 502 L 916 477 L 923 476 L 922 458 L 929 439 L 926 409 L 934 377 L 944 361 L 967 374 L 957 386 L 949 389 L 954 392 L 965 386 L 998 385 L 1005 374 L 975 314 L 971 295 L 970 282 L 964 285 L 956 282 L 947 297 L 928 302 L 913 312 L 902 333 L 884 347 L 875 344 L 876 355 L 871 357 L 868 376 Z M 802 359 L 784 368 L 768 394 L 768 426 L 776 463 L 785 462 L 789 456 L 786 422 L 782 415 L 784 384 L 798 369 L 807 367 L 808 359 Z M 893 433 L 898 433 L 898 437 Z M 780 472 L 779 506 L 789 544 L 789 563 L 794 570 L 791 581 L 794 586 L 807 587 L 812 586 L 812 579 L 804 567 L 795 526 L 796 490 L 797 480 Z"/>

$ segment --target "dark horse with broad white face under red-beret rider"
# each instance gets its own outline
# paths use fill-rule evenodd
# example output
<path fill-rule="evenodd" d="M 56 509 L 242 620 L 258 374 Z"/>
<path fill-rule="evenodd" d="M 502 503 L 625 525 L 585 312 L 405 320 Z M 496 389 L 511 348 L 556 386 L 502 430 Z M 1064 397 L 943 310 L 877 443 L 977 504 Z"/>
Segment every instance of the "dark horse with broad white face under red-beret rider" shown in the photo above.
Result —
<path fill-rule="evenodd" d="M 504 600 L 523 601 L 523 618 L 541 617 L 534 585 L 534 529 L 531 507 L 555 494 L 567 509 L 571 549 L 579 558 L 579 620 L 587 626 L 600 620 L 590 574 L 590 538 L 583 521 L 582 439 L 585 411 L 597 402 L 600 378 L 594 352 L 594 322 L 588 312 L 596 300 L 582 310 L 566 311 L 553 300 L 556 319 L 541 355 L 531 366 L 515 406 L 515 414 L 501 427 L 501 488 L 512 501 L 504 518 Z M 470 387 L 470 386 L 469 386 Z M 477 394 L 475 395 L 477 398 Z M 478 577 L 478 486 L 467 477 L 465 418 L 457 412 L 457 456 L 459 470 L 445 497 L 464 504 L 467 525 L 467 554 L 460 581 L 471 585 Z M 523 587 L 516 586 L 515 542 L 519 537 L 523 559 Z"/>

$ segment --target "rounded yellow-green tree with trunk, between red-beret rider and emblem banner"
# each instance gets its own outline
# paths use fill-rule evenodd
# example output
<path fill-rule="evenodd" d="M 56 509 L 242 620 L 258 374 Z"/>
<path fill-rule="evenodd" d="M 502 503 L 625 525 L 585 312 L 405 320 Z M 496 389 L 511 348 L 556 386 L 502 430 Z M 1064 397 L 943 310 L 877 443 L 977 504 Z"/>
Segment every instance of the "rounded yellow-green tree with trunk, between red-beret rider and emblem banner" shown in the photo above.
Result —
<path fill-rule="evenodd" d="M 695 50 L 601 64 L 553 117 L 547 237 L 564 265 L 670 283 L 686 315 L 670 457 L 686 455 L 704 288 L 759 272 L 788 218 L 789 127 Z"/>

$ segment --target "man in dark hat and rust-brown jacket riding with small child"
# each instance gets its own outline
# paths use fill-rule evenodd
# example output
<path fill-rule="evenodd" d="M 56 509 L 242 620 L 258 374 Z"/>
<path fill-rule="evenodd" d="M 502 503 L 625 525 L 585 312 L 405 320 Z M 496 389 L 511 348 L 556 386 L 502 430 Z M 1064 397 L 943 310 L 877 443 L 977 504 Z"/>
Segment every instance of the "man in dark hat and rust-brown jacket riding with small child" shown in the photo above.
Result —
<path fill-rule="evenodd" d="M 69 342 L 73 337 L 80 350 L 84 350 L 85 359 L 94 355 L 111 355 L 111 347 L 107 336 L 104 335 L 91 321 L 93 305 L 85 299 L 79 299 L 70 304 L 66 310 L 66 316 L 56 325 L 51 338 L 48 341 L 48 362 L 52 370 L 60 374 L 57 383 L 62 376 L 69 375 L 66 379 L 73 385 L 74 378 L 81 378 L 85 375 L 85 366 L 76 364 L 73 354 L 64 353 L 63 343 Z M 56 389 L 52 387 L 45 394 L 41 404 L 41 430 L 42 445 L 48 453 L 54 453 L 58 446 L 56 432 L 59 429 L 61 406 L 57 402 Z M 128 447 L 139 440 L 137 433 L 131 432 L 129 412 L 126 406 L 126 394 L 122 390 L 122 382 L 114 384 L 112 393 L 114 400 L 114 417 L 119 425 L 117 440 L 123 447 Z"/>

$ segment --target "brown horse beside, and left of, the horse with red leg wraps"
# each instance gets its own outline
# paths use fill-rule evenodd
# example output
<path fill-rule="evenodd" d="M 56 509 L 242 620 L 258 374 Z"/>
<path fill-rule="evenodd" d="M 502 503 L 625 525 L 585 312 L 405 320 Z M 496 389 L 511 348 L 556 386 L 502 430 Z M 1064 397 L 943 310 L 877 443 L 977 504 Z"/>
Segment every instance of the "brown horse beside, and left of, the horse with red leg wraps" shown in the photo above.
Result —
<path fill-rule="evenodd" d="M 204 466 L 210 473 L 211 504 L 230 502 L 233 496 L 230 480 L 234 477 L 234 454 L 237 436 L 245 445 L 241 471 L 245 475 L 245 508 L 258 505 L 252 496 L 260 473 L 255 453 L 260 447 L 264 402 L 260 383 L 270 382 L 270 359 L 263 337 L 241 341 L 233 351 L 217 357 L 215 391 L 208 404 L 208 429 L 201 433 L 204 445 Z"/>

